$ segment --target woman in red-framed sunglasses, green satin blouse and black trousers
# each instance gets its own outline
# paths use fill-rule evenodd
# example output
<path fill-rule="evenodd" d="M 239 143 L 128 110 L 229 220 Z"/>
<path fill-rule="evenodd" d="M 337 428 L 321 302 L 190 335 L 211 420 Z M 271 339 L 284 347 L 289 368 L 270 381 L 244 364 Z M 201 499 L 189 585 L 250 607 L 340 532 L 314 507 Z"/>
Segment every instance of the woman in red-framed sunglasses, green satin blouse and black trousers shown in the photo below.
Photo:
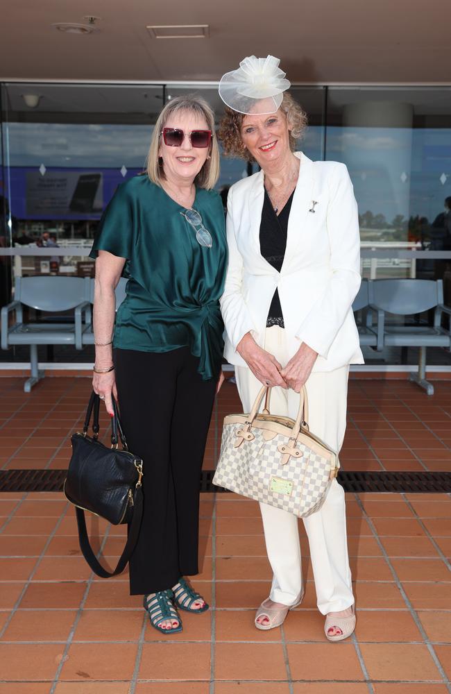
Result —
<path fill-rule="evenodd" d="M 151 625 L 180 632 L 178 609 L 208 609 L 185 576 L 198 573 L 199 476 L 221 385 L 219 297 L 227 248 L 214 115 L 179 96 L 153 130 L 145 176 L 126 180 L 94 239 L 93 387 L 119 399 L 130 450 L 144 462 L 144 514 L 130 593 Z M 128 278 L 114 325 L 114 288 Z"/>

